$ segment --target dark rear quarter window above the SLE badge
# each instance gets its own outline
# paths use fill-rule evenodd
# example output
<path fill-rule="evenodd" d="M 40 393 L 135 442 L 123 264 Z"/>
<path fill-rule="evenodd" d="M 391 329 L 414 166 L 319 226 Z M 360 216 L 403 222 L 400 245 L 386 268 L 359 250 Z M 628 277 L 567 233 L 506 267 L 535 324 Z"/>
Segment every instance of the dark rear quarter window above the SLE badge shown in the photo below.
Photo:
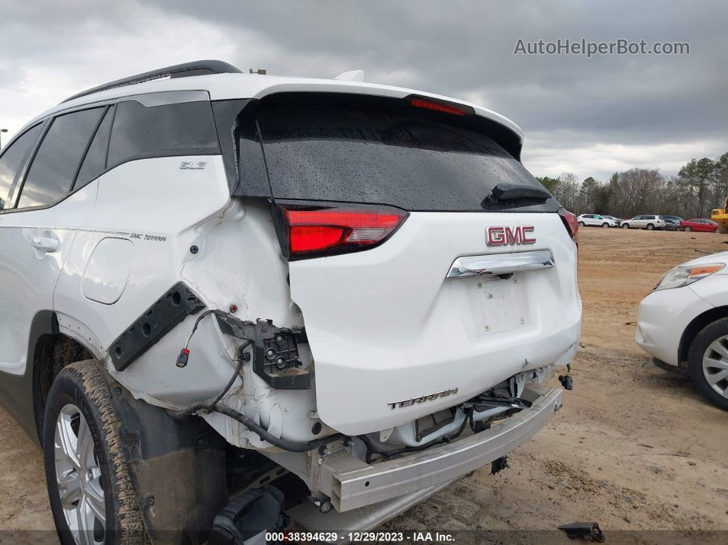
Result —
<path fill-rule="evenodd" d="M 149 107 L 127 100 L 116 105 L 108 168 L 132 159 L 219 153 L 207 100 Z"/>

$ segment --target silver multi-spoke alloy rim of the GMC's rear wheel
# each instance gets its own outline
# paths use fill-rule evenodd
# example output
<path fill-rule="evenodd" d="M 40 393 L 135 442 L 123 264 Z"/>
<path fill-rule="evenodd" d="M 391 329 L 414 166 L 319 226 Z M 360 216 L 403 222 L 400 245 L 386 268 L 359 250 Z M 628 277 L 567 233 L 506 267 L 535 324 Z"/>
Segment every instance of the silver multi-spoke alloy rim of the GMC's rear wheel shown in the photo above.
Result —
<path fill-rule="evenodd" d="M 103 543 L 106 501 L 94 441 L 75 405 L 60 410 L 55 426 L 55 474 L 63 515 L 76 544 Z"/>

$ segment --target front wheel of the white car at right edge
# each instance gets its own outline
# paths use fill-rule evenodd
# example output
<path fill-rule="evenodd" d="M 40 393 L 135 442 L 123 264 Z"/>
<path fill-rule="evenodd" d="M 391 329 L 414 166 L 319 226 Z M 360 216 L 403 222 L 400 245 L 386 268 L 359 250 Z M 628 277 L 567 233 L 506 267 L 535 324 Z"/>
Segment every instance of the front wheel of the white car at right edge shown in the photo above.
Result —
<path fill-rule="evenodd" d="M 688 371 L 705 399 L 728 410 L 728 318 L 716 320 L 697 334 L 688 352 Z"/>

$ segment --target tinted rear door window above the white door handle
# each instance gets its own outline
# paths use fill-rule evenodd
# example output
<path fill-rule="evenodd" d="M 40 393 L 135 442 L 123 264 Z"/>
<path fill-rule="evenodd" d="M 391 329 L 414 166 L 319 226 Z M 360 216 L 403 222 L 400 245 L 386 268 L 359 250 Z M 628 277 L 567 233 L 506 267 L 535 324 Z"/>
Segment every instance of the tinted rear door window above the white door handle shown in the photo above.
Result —
<path fill-rule="evenodd" d="M 53 120 L 28 169 L 18 208 L 55 204 L 68 195 L 105 109 L 76 111 Z"/>

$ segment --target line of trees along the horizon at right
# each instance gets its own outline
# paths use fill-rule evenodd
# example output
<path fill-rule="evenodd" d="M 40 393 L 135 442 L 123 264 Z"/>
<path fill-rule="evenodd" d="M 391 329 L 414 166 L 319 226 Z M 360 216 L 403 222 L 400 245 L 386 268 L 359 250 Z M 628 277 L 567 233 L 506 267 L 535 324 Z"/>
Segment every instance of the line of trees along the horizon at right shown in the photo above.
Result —
<path fill-rule="evenodd" d="M 538 179 L 566 210 L 576 214 L 710 218 L 711 210 L 722 208 L 728 196 L 728 152 L 717 159 L 692 159 L 670 177 L 657 169 L 633 168 L 614 172 L 606 182 L 591 176 L 579 182 L 573 172 Z"/>

